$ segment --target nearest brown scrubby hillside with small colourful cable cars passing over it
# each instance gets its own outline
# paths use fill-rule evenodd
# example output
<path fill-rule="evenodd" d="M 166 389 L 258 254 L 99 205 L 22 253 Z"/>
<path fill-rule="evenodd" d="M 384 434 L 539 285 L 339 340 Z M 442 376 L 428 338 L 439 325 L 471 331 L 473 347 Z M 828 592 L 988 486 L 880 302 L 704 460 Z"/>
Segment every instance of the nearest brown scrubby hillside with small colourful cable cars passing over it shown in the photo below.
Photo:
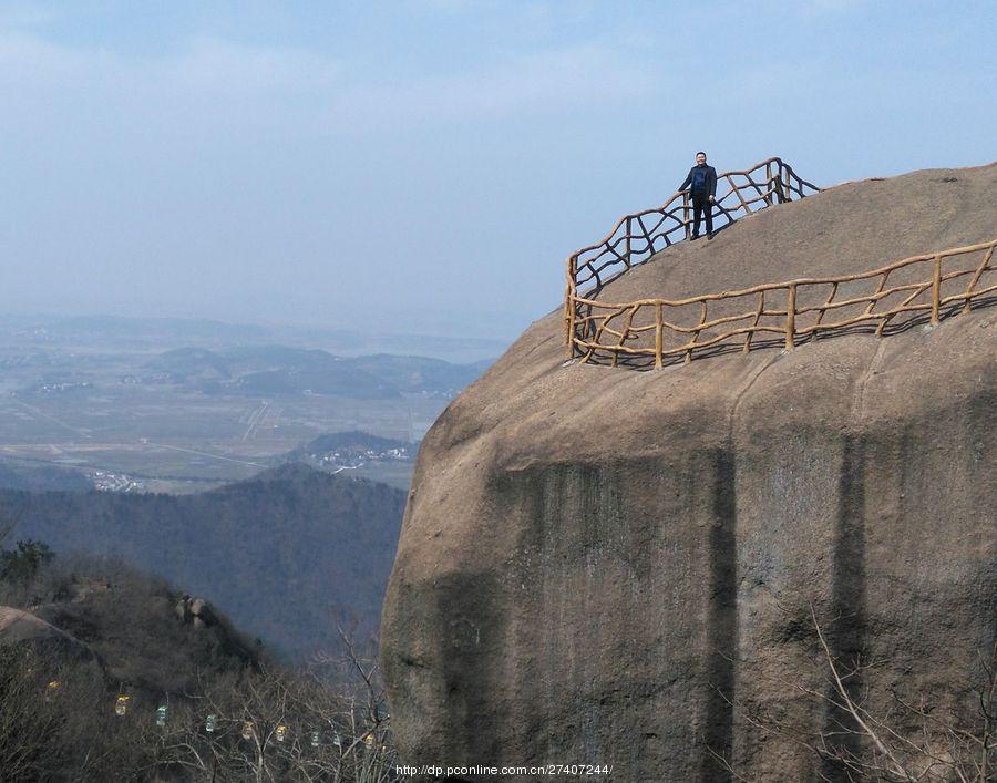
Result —
<path fill-rule="evenodd" d="M 219 607 L 0 524 L 0 780 L 392 781 L 368 649 L 271 660 Z"/>

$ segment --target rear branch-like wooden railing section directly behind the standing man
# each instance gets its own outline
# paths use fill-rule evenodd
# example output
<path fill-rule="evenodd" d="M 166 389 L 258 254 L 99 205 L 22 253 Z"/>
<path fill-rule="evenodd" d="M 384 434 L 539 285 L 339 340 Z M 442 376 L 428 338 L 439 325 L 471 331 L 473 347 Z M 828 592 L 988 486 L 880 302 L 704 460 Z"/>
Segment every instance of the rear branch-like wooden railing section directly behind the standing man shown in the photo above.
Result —
<path fill-rule="evenodd" d="M 712 205 L 718 210 L 716 219 L 721 221 L 717 230 L 758 209 L 820 190 L 796 176 L 792 166 L 779 157 L 770 157 L 746 171 L 724 172 L 717 179 L 718 185 L 728 187 Z M 588 286 L 585 296 L 595 297 L 607 282 L 627 269 L 666 247 L 689 239 L 691 213 L 689 192 L 680 190 L 660 207 L 625 215 L 598 243 L 568 256 L 564 320 L 565 339 L 572 352 L 576 330 L 582 323 L 582 313 L 577 310 L 577 302 L 582 301 L 578 292 Z"/>

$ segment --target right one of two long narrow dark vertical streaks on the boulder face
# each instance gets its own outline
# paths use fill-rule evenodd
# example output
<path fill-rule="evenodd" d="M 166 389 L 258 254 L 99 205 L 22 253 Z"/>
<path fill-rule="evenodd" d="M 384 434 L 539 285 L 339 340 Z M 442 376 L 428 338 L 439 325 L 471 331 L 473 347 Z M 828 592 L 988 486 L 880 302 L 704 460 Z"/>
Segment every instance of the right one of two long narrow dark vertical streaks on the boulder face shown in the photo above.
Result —
<path fill-rule="evenodd" d="M 845 435 L 837 492 L 837 525 L 832 564 L 831 600 L 834 624 L 826 629 L 831 655 L 839 671 L 850 671 L 865 646 L 865 449 L 861 440 Z M 847 680 L 849 696 L 859 701 L 862 677 Z M 836 700 L 840 697 L 831 693 Z M 825 734 L 839 735 L 842 753 L 861 754 L 861 736 L 854 719 L 843 710 L 829 708 L 824 714 Z M 832 745 L 835 743 L 831 743 Z M 833 761 L 823 762 L 829 781 L 850 781 L 846 771 Z"/>

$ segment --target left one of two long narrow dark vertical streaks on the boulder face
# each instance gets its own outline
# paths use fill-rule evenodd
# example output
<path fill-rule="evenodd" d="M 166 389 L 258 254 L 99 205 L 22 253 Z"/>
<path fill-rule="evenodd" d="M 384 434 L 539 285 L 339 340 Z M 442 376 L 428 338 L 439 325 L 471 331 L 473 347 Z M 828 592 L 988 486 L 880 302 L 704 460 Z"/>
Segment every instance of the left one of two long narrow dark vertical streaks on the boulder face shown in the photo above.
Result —
<path fill-rule="evenodd" d="M 712 455 L 710 593 L 706 661 L 706 746 L 700 780 L 728 781 L 730 773 L 713 756 L 731 758 L 733 748 L 734 661 L 738 657 L 738 562 L 736 468 L 731 449 Z M 712 753 L 710 752 L 712 751 Z"/>

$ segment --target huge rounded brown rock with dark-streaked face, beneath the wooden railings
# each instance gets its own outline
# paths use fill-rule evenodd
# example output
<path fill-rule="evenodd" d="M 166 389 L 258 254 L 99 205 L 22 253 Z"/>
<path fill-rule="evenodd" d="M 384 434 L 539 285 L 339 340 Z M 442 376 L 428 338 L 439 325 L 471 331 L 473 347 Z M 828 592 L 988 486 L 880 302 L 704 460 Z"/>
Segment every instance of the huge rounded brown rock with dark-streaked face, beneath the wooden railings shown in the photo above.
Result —
<path fill-rule="evenodd" d="M 997 166 L 841 185 L 676 246 L 606 298 L 856 272 L 997 236 Z M 583 238 L 584 239 L 584 238 Z M 534 323 L 423 442 L 382 621 L 409 762 L 812 780 L 747 715 L 835 715 L 809 605 L 863 686 L 934 699 L 997 609 L 997 307 L 638 372 Z M 835 619 L 836 618 L 836 619 Z"/>

